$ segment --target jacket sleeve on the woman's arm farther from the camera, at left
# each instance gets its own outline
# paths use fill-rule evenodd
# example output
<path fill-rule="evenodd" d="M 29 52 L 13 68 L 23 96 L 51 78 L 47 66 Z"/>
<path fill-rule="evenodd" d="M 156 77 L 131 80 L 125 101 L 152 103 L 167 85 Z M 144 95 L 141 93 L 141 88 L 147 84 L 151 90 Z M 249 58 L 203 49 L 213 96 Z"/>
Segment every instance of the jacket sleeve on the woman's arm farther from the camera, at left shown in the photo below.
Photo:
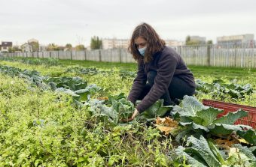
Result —
<path fill-rule="evenodd" d="M 147 76 L 145 75 L 143 61 L 139 60 L 137 76 L 133 81 L 133 86 L 128 96 L 128 100 L 130 100 L 132 103 L 135 104 L 140 94 L 142 94 L 142 91 L 143 91 L 143 88 L 145 87 L 146 82 L 147 82 Z"/>

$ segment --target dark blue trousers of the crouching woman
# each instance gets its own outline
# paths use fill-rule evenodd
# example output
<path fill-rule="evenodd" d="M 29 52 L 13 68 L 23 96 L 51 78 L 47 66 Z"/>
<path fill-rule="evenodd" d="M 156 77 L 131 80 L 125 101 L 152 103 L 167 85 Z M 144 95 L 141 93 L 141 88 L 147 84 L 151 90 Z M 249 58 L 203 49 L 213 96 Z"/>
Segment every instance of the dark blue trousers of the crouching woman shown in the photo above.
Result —
<path fill-rule="evenodd" d="M 157 71 L 151 70 L 147 74 L 148 83 L 145 85 L 145 88 L 142 91 L 142 94 L 139 97 L 139 100 L 142 100 L 148 92 L 151 90 L 151 87 L 154 85 L 154 78 L 157 76 Z M 168 91 L 163 94 L 160 99 L 164 100 L 163 105 L 175 105 L 178 104 L 178 99 L 183 99 L 184 95 L 192 96 L 194 94 L 195 88 L 191 87 L 184 80 L 178 78 L 178 76 L 172 77 L 172 82 L 168 87 Z"/>

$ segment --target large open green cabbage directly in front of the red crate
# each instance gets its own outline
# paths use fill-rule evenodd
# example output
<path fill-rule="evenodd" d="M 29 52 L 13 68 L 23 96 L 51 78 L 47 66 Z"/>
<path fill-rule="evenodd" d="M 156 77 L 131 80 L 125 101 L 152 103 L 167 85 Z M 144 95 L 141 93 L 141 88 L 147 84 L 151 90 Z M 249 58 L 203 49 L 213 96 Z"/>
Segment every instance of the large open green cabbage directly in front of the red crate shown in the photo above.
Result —
<path fill-rule="evenodd" d="M 203 106 L 194 97 L 184 96 L 181 106 L 173 107 L 172 115 L 179 120 L 181 126 L 187 127 L 187 130 L 192 130 L 195 133 L 212 133 L 215 136 L 225 136 L 244 128 L 251 129 L 245 125 L 233 125 L 237 119 L 247 116 L 247 112 L 239 110 L 217 118 L 221 112 L 223 110 Z"/>

